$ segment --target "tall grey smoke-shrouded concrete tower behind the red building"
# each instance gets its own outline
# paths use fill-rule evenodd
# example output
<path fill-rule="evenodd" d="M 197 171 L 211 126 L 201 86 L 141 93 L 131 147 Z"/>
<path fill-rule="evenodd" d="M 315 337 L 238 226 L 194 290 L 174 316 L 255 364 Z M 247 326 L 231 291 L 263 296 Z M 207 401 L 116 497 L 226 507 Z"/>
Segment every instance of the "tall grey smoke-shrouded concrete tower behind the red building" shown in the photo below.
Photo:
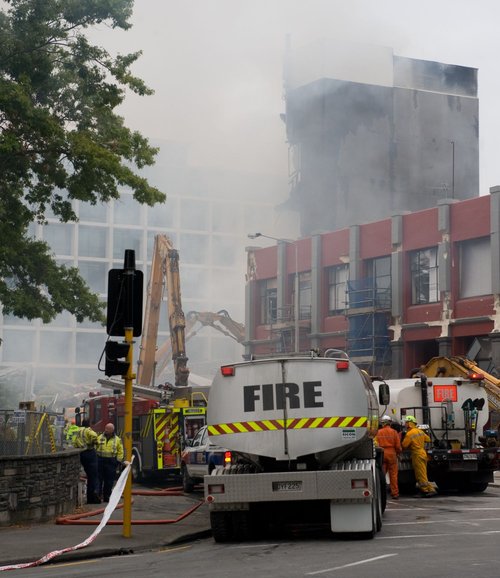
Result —
<path fill-rule="evenodd" d="M 327 43 L 291 53 L 285 97 L 302 235 L 479 195 L 476 69 Z"/>

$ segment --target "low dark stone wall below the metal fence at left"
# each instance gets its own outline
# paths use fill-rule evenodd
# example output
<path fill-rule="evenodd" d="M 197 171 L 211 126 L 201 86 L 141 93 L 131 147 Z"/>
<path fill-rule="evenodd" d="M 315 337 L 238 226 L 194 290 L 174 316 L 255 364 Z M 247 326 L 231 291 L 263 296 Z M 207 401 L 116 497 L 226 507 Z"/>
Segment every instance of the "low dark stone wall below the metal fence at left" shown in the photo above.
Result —
<path fill-rule="evenodd" d="M 0 526 L 46 522 L 79 505 L 77 450 L 0 456 Z"/>

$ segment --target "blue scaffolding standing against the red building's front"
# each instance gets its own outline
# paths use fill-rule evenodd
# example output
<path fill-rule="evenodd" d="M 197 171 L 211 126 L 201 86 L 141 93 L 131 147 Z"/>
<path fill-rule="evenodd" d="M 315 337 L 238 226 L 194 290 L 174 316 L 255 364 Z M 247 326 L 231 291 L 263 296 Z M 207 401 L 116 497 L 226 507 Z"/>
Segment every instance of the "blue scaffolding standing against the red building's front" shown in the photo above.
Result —
<path fill-rule="evenodd" d="M 373 278 L 347 282 L 347 352 L 371 375 L 384 376 L 391 361 L 390 288 L 377 287 Z"/>

